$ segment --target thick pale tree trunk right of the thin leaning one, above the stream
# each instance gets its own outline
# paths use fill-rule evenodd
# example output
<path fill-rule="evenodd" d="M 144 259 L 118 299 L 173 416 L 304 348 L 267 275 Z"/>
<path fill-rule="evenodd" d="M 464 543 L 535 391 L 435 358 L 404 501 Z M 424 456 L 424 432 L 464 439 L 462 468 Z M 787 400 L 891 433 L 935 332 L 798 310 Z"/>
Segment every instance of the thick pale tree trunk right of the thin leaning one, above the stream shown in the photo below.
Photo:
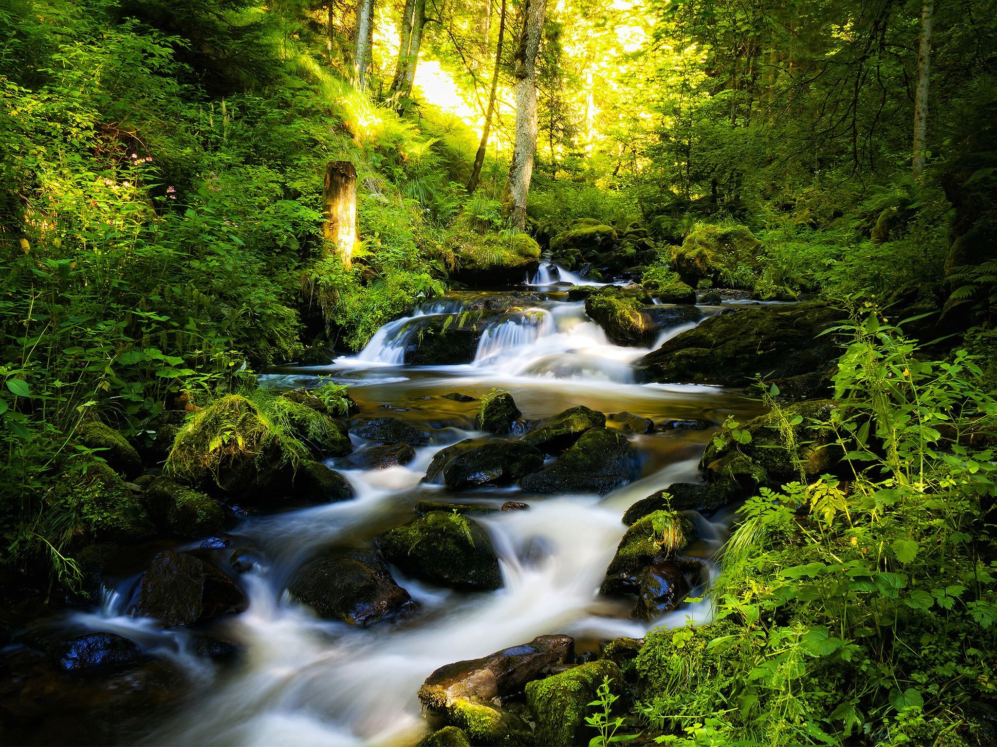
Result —
<path fill-rule="evenodd" d="M 515 53 L 515 144 L 502 202 L 509 222 L 520 231 L 526 227 L 526 196 L 536 154 L 536 53 L 546 9 L 546 0 L 527 0 L 522 36 Z"/>

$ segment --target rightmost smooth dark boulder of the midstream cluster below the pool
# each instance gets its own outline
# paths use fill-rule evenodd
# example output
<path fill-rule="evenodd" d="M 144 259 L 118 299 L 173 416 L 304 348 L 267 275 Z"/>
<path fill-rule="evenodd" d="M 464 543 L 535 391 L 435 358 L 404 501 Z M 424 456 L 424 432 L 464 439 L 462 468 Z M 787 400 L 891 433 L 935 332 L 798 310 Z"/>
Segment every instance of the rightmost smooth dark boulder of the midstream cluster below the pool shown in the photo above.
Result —
<path fill-rule="evenodd" d="M 605 495 L 639 474 L 638 458 L 625 435 L 592 428 L 553 464 L 519 480 L 519 487 L 534 493 Z"/>

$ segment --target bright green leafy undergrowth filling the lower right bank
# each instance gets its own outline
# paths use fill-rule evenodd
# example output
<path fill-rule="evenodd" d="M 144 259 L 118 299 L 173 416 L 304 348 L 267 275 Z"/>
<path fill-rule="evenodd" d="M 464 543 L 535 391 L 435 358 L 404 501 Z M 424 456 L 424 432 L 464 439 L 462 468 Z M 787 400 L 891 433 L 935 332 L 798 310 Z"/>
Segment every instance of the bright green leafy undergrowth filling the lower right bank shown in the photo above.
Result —
<path fill-rule="evenodd" d="M 711 592 L 718 619 L 739 623 L 709 643 L 726 688 L 707 712 L 703 693 L 688 712 L 643 706 L 684 733 L 659 741 L 963 743 L 971 704 L 997 692 L 997 401 L 965 351 L 925 360 L 875 313 L 829 332 L 852 338 L 834 377 L 842 406 L 822 423 L 843 471 L 740 509 Z"/>

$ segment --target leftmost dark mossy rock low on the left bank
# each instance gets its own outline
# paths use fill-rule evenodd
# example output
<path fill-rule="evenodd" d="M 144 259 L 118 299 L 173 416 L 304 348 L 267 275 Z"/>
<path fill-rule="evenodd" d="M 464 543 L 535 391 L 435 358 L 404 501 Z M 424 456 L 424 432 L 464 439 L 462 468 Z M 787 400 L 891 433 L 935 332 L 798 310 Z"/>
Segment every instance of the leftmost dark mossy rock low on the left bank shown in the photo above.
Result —
<path fill-rule="evenodd" d="M 139 497 L 110 465 L 97 462 L 58 478 L 55 500 L 73 518 L 71 546 L 94 542 L 136 543 L 156 535 Z"/>

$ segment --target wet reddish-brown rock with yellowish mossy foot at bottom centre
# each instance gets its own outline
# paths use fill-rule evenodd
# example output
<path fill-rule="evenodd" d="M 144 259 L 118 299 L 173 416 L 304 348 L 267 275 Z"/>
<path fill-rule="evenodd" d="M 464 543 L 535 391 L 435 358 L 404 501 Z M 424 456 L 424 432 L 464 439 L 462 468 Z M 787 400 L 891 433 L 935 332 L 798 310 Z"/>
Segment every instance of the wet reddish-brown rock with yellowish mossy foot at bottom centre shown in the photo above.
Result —
<path fill-rule="evenodd" d="M 477 745 L 529 744 L 528 726 L 496 703 L 520 694 L 528 682 L 574 656 L 567 635 L 538 635 L 528 643 L 434 671 L 419 699 L 430 713 L 465 731 Z"/>

